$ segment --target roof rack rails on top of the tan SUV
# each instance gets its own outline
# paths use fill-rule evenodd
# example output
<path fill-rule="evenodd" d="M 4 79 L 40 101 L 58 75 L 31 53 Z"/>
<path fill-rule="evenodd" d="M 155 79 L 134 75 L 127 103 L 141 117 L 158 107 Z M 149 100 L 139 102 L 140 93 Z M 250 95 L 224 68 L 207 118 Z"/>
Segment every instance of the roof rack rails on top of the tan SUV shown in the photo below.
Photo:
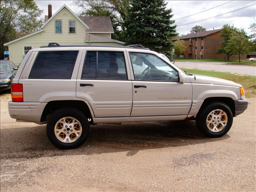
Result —
<path fill-rule="evenodd" d="M 134 44 L 128 46 L 109 46 L 109 45 L 60 45 L 58 43 L 51 42 L 48 46 L 40 46 L 40 48 L 47 47 L 113 47 L 113 48 L 136 48 L 136 49 L 145 49 L 150 50 L 149 48 L 144 48 L 142 45 Z"/>

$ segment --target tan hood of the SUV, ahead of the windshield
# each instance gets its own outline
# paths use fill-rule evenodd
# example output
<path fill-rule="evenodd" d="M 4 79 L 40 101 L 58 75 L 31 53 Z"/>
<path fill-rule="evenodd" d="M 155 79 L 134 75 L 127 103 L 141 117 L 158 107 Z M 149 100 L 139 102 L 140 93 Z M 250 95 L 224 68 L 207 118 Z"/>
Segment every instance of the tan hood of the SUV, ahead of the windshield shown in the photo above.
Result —
<path fill-rule="evenodd" d="M 225 80 L 225 79 L 196 75 L 196 80 L 195 80 L 194 77 L 195 77 L 195 75 L 189 76 L 191 83 L 215 84 L 215 85 L 242 87 L 242 85 L 240 85 L 238 83 L 235 83 L 235 82 L 232 82 L 229 80 Z"/>

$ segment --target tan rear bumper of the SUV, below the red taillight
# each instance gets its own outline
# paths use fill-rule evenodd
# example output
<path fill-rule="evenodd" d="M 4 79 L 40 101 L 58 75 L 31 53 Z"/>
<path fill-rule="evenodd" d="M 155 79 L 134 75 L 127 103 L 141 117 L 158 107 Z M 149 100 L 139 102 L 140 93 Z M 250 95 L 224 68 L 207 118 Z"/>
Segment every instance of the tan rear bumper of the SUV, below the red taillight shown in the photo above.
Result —
<path fill-rule="evenodd" d="M 30 122 L 40 122 L 44 107 L 47 103 L 41 102 L 8 102 L 11 118 Z"/>

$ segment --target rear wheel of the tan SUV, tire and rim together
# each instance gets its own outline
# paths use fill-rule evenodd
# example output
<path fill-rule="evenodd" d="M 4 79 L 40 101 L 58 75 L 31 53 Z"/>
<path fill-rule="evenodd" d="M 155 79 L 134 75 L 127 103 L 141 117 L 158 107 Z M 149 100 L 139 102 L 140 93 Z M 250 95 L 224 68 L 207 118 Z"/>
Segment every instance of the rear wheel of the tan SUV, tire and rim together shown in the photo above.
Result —
<path fill-rule="evenodd" d="M 72 149 L 86 141 L 89 128 L 89 122 L 81 111 L 61 108 L 50 116 L 46 132 L 49 140 L 58 148 Z"/>

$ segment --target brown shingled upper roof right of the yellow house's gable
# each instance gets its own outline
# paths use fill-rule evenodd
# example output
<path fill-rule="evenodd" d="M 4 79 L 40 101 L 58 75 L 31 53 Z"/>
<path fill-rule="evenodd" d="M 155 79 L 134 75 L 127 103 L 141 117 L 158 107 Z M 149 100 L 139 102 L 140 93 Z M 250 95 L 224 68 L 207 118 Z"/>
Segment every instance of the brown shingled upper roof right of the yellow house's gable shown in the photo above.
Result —
<path fill-rule="evenodd" d="M 86 32 L 98 33 L 107 32 L 114 33 L 112 22 L 109 16 L 80 16 L 79 17 L 89 29 Z"/>

